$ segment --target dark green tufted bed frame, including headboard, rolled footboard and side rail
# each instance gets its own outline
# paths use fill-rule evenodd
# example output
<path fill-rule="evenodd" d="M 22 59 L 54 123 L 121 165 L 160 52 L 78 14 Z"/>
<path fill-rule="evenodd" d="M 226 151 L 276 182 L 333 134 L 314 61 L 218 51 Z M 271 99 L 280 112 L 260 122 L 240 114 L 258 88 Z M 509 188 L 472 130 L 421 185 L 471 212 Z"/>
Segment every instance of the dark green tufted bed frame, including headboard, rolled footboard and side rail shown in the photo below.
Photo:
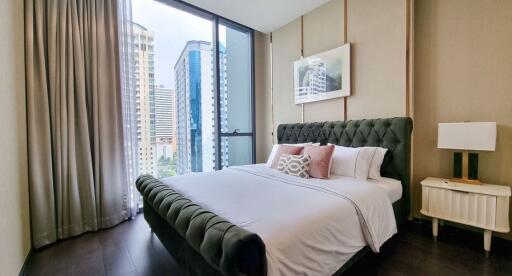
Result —
<path fill-rule="evenodd" d="M 402 198 L 393 204 L 398 224 L 409 215 L 412 120 L 387 118 L 322 123 L 282 124 L 278 143 L 332 143 L 347 147 L 379 146 L 388 153 L 381 174 L 402 182 Z M 137 179 L 144 199 L 144 218 L 189 275 L 266 275 L 261 238 L 203 209 L 152 176 Z M 336 274 L 346 271 L 368 247 L 356 253 Z"/>

